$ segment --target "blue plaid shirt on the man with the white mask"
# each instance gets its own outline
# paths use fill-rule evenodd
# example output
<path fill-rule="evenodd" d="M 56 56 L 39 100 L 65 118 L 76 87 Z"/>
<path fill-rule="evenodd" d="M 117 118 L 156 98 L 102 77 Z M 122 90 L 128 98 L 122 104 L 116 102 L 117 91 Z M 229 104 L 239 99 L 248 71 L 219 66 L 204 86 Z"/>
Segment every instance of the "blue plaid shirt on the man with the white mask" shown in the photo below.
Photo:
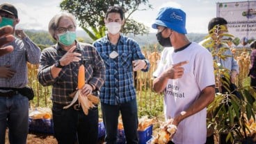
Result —
<path fill-rule="evenodd" d="M 145 60 L 138 43 L 134 39 L 120 34 L 116 46 L 111 44 L 107 35 L 95 41 L 93 45 L 99 55 L 102 56 L 106 66 L 106 81 L 99 96 L 101 102 L 108 105 L 118 105 L 136 98 L 132 61 Z M 114 59 L 109 57 L 113 51 L 118 53 L 118 57 Z M 145 62 L 147 63 L 147 69 L 142 71 L 148 71 L 150 68 L 148 60 L 145 60 Z"/>

